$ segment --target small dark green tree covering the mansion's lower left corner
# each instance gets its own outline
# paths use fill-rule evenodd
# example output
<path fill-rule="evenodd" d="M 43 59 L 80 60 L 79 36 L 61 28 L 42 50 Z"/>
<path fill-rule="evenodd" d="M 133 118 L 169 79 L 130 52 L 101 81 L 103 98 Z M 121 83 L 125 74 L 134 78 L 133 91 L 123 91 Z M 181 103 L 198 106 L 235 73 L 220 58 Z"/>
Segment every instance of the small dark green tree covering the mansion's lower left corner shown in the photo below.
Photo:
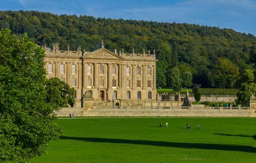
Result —
<path fill-rule="evenodd" d="M 46 101 L 55 107 L 73 107 L 75 104 L 75 89 L 58 78 L 47 79 L 45 89 Z"/>

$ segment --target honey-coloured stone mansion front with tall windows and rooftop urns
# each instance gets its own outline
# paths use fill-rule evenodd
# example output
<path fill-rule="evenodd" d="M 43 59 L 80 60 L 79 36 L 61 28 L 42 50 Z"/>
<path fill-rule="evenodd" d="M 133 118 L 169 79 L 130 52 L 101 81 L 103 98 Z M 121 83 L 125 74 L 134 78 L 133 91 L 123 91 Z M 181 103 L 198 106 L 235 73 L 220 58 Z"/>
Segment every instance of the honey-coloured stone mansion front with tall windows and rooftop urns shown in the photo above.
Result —
<path fill-rule="evenodd" d="M 111 52 L 103 41 L 93 52 L 45 48 L 47 78 L 59 78 L 75 89 L 75 107 L 84 107 L 85 100 L 116 106 L 156 101 L 155 52 L 132 51 Z"/>

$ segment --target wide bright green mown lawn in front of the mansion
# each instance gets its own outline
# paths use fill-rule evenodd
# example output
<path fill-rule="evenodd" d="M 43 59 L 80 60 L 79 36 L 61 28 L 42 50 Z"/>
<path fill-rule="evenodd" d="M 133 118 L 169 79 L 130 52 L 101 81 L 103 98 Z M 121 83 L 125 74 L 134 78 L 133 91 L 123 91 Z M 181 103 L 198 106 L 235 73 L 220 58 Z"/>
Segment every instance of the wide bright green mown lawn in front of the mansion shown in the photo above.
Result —
<path fill-rule="evenodd" d="M 62 138 L 31 162 L 256 162 L 255 123 L 254 118 L 58 119 Z"/>

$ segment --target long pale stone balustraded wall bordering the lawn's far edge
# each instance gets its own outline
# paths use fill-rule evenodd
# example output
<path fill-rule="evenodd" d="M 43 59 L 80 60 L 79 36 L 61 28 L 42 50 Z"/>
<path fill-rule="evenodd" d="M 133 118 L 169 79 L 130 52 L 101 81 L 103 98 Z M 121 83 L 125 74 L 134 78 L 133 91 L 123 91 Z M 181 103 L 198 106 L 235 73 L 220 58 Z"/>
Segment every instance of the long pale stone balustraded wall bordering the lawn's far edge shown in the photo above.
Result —
<path fill-rule="evenodd" d="M 62 108 L 58 116 L 69 116 L 69 113 L 75 113 L 75 116 L 181 116 L 181 117 L 256 117 L 254 109 L 249 107 L 145 107 L 145 106 L 97 106 L 94 110 L 83 110 L 82 108 Z"/>

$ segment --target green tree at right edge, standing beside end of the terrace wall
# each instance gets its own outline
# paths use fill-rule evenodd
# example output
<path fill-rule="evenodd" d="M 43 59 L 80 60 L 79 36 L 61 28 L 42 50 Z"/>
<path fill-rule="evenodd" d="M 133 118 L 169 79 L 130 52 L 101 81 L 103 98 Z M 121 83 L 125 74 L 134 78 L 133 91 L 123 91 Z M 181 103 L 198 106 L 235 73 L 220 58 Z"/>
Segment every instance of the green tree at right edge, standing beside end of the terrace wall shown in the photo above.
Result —
<path fill-rule="evenodd" d="M 237 104 L 247 105 L 252 95 L 256 95 L 256 70 L 245 70 L 237 81 Z"/>

